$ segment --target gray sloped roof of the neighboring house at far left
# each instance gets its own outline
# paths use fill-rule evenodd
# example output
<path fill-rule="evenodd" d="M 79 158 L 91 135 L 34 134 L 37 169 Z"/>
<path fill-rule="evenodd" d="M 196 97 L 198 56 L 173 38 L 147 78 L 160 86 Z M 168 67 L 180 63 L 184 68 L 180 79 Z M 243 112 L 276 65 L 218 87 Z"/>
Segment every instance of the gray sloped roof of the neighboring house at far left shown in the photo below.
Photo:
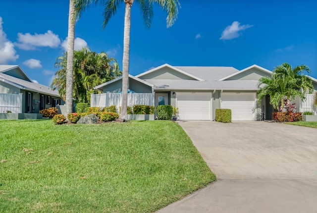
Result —
<path fill-rule="evenodd" d="M 2 68 L 2 67 L 4 67 L 4 66 L 1 65 L 0 68 Z M 16 67 L 16 66 L 13 66 L 13 67 Z M 7 83 L 9 83 L 11 85 L 13 84 L 14 86 L 19 87 L 20 89 L 25 89 L 25 90 L 29 90 L 29 91 L 35 91 L 35 92 L 39 92 L 39 93 L 42 93 L 42 94 L 59 97 L 58 92 L 57 91 L 53 91 L 49 86 L 46 86 L 46 85 L 43 85 L 43 84 L 39 84 L 39 83 L 29 82 L 29 81 L 26 81 L 26 80 L 22 80 L 20 78 L 13 77 L 11 75 L 4 74 L 4 73 L 1 73 L 1 72 L 0 72 L 0 81 L 7 82 Z"/>

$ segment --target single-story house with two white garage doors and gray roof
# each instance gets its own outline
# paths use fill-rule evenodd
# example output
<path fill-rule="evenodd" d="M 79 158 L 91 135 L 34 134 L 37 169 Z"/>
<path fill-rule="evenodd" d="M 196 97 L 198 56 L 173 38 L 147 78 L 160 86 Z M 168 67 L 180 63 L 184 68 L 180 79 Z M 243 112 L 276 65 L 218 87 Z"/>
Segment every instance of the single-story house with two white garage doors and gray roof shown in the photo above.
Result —
<path fill-rule="evenodd" d="M 271 71 L 258 65 L 239 71 L 233 67 L 164 64 L 136 76 L 129 75 L 128 88 L 136 95 L 152 94 L 153 100 L 146 104 L 178 107 L 180 120 L 214 120 L 215 109 L 219 108 L 231 109 L 233 121 L 261 120 L 262 116 L 271 119 L 273 107 L 269 96 L 263 98 L 261 104 L 257 102 L 257 84 L 262 76 L 270 77 Z M 316 79 L 313 82 L 317 90 Z M 117 94 L 122 90 L 122 76 L 95 88 L 105 94 Z M 91 103 L 92 106 L 95 103 L 93 98 Z M 102 101 L 97 105 L 103 103 L 107 104 Z"/>

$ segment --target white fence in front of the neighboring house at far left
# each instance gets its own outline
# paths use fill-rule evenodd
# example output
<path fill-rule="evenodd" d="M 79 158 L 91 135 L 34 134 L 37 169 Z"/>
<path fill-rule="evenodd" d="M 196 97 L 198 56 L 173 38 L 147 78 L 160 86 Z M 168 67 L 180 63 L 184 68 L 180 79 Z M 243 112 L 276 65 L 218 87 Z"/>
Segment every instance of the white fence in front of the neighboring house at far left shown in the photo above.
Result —
<path fill-rule="evenodd" d="M 22 93 L 5 94 L 0 93 L 0 113 L 22 113 Z"/>

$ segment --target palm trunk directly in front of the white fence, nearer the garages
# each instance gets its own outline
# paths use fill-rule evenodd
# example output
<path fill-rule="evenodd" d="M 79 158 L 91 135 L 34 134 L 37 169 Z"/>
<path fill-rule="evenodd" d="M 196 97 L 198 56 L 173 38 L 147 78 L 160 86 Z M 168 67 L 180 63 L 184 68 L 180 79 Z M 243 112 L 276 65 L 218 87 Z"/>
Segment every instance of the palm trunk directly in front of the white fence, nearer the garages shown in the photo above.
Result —
<path fill-rule="evenodd" d="M 122 103 L 119 119 L 128 120 L 128 82 L 129 82 L 129 53 L 130 53 L 130 27 L 131 27 L 131 6 L 133 0 L 125 0 L 124 15 L 124 36 L 123 36 L 123 61 L 122 61 Z"/>

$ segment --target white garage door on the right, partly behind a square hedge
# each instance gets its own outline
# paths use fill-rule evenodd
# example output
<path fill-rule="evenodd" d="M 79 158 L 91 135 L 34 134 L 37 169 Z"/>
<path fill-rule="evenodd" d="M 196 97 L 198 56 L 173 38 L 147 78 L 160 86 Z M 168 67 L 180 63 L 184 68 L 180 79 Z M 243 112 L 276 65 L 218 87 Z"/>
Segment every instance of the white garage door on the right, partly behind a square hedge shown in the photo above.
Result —
<path fill-rule="evenodd" d="M 256 110 L 255 92 L 223 92 L 221 108 L 231 109 L 232 121 L 253 121 Z"/>

